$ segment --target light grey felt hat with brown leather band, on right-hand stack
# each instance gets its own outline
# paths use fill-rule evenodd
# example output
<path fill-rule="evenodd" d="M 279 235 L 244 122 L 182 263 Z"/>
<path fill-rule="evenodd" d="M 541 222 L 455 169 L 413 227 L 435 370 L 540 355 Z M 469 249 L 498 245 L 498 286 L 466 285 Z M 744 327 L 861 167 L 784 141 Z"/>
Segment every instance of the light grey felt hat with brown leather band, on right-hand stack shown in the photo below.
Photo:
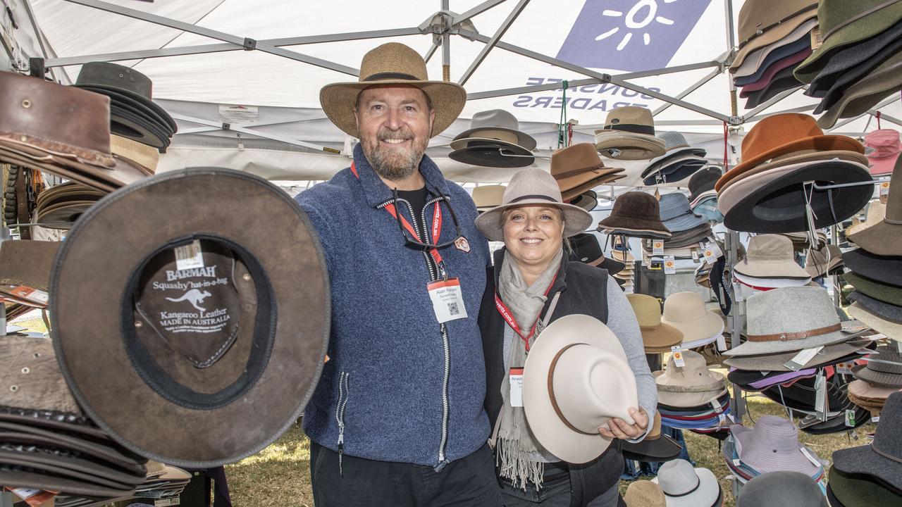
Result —
<path fill-rule="evenodd" d="M 748 341 L 723 355 L 777 354 L 848 341 L 821 287 L 782 287 L 746 300 Z"/>

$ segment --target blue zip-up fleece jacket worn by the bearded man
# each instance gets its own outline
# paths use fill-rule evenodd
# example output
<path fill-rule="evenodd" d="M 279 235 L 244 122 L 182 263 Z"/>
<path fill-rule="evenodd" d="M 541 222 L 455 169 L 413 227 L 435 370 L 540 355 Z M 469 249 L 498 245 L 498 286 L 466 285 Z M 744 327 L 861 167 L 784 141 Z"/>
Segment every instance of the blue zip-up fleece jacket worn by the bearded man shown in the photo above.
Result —
<path fill-rule="evenodd" d="M 430 194 L 449 201 L 439 203 L 437 244 L 457 237 L 450 206 L 470 247 L 468 253 L 440 250 L 447 276 L 460 280 L 468 316 L 447 322 L 443 333 L 427 290 L 442 277 L 437 265 L 405 246 L 384 208 L 392 191 L 359 144 L 354 169 L 356 175 L 345 169 L 297 198 L 318 231 L 332 284 L 329 361 L 304 412 L 304 429 L 314 442 L 348 456 L 440 469 L 489 437 L 476 323 L 488 244 L 474 226 L 473 199 L 424 156 L 419 171 Z M 404 202 L 397 209 L 418 230 L 431 229 L 434 200 L 415 220 Z"/>

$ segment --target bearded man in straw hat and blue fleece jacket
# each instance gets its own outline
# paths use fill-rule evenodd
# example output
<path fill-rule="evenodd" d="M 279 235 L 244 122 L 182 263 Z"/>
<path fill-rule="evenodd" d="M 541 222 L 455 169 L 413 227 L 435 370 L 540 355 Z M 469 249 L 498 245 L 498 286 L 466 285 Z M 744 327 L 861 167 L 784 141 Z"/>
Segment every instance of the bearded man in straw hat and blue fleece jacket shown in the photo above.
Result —
<path fill-rule="evenodd" d="M 319 98 L 360 143 L 350 168 L 298 197 L 332 286 L 329 360 L 304 414 L 314 502 L 500 505 L 476 324 L 488 244 L 473 200 L 424 155 L 465 91 L 388 43 L 359 82 Z"/>

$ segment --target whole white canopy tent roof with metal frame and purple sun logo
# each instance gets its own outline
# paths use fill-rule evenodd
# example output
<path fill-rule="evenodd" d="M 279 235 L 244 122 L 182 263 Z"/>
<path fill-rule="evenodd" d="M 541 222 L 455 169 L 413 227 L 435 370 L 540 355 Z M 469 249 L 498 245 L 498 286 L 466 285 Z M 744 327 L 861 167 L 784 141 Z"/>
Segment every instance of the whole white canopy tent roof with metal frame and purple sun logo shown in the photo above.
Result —
<path fill-rule="evenodd" d="M 9 57 L 11 67 L 43 57 L 53 78 L 68 84 L 81 64 L 109 60 L 152 78 L 154 99 L 179 123 L 161 171 L 216 165 L 271 180 L 329 178 L 348 165 L 354 140 L 319 109 L 318 90 L 356 80 L 364 53 L 385 41 L 423 54 L 431 78 L 446 70 L 465 85 L 464 113 L 428 150 L 460 182 L 506 181 L 513 172 L 447 158 L 450 140 L 486 109 L 516 115 L 538 139 L 537 165 L 547 168 L 563 80 L 566 117 L 578 122 L 574 142 L 591 142 L 613 107 L 648 106 L 658 131 L 683 132 L 712 161 L 726 150 L 731 163 L 741 134 L 761 117 L 810 112 L 817 102 L 798 88 L 752 110 L 741 108 L 743 100 L 732 109 L 726 67 L 742 0 L 3 1 L 0 59 Z M 898 96 L 871 113 L 878 110 L 884 124 L 902 124 Z M 875 128 L 864 115 L 833 132 Z M 619 183 L 641 184 L 644 162 L 612 165 L 627 168 Z"/>

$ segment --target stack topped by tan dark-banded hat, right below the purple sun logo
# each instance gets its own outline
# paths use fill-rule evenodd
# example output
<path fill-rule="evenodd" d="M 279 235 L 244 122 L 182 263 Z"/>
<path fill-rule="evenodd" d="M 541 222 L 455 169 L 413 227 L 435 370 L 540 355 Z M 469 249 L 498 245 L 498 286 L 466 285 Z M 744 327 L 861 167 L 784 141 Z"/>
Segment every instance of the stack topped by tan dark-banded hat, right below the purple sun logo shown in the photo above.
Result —
<path fill-rule="evenodd" d="M 595 149 L 603 157 L 621 161 L 648 161 L 665 153 L 664 141 L 655 137 L 655 120 L 647 107 L 615 107 L 595 131 Z"/>

